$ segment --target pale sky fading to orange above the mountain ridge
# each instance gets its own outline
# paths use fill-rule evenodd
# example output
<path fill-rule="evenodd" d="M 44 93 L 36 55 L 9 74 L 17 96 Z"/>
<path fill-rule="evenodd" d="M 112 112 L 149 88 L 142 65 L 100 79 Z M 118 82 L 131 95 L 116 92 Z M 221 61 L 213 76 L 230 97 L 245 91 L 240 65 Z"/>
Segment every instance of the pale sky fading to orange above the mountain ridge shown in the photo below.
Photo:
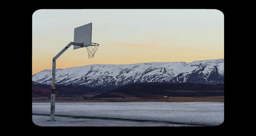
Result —
<path fill-rule="evenodd" d="M 36 10 L 32 15 L 32 74 L 52 69 L 52 58 L 74 42 L 74 28 L 92 22 L 93 59 L 70 47 L 56 69 L 89 64 L 192 62 L 224 58 L 220 10 Z"/>

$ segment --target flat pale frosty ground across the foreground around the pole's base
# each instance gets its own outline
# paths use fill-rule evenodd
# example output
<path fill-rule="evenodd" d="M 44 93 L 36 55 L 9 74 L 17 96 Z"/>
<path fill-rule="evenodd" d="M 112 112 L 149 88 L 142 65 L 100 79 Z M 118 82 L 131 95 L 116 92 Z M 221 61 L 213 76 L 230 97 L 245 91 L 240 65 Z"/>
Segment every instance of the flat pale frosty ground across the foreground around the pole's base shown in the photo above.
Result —
<path fill-rule="evenodd" d="M 218 126 L 224 121 L 223 102 L 99 102 L 32 103 L 38 126 Z"/>

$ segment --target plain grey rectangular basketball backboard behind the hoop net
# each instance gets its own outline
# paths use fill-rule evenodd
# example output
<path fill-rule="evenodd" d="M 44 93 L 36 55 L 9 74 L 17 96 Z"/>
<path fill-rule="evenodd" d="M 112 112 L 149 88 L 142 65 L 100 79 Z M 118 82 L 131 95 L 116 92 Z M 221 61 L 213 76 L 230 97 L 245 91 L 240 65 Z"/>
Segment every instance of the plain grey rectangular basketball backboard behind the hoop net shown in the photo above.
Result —
<path fill-rule="evenodd" d="M 91 43 L 92 43 L 92 23 L 75 28 L 74 42 L 83 43 L 83 47 L 91 45 Z M 74 49 L 79 49 L 79 48 L 80 48 L 80 46 L 74 45 Z"/>

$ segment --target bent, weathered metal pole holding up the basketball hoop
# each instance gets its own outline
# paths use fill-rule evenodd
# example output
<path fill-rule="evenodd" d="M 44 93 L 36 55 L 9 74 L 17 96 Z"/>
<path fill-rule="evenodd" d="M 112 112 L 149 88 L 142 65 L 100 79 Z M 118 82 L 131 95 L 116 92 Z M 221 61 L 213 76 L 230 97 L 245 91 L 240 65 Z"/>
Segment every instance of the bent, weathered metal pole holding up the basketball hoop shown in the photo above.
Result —
<path fill-rule="evenodd" d="M 51 121 L 54 121 L 54 116 L 55 116 L 55 77 L 56 77 L 56 59 L 63 54 L 71 45 L 79 45 L 83 47 L 83 43 L 75 43 L 75 42 L 70 42 L 68 45 L 63 48 L 55 57 L 52 58 L 52 93 L 51 93 Z"/>

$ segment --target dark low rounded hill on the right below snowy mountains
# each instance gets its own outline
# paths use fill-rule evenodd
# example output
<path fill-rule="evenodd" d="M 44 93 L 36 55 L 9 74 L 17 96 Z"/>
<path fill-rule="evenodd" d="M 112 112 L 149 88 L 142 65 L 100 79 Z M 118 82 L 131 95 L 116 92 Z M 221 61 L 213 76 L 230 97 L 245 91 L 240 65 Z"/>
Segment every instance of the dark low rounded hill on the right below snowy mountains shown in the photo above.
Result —
<path fill-rule="evenodd" d="M 95 98 L 115 97 L 159 97 L 159 96 L 223 96 L 224 84 L 202 84 L 193 82 L 147 82 L 128 84 Z"/>

